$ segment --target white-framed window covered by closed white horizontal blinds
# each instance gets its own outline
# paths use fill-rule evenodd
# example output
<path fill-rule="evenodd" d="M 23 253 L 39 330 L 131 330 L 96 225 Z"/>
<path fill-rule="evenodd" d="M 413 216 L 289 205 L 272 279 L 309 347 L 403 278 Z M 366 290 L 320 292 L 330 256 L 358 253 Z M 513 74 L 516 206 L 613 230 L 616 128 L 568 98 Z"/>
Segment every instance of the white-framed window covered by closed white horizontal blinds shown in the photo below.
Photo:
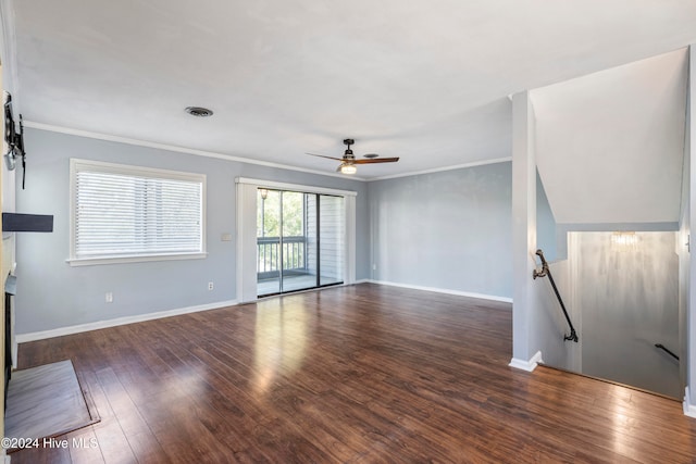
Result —
<path fill-rule="evenodd" d="M 206 176 L 71 160 L 73 265 L 204 256 Z"/>

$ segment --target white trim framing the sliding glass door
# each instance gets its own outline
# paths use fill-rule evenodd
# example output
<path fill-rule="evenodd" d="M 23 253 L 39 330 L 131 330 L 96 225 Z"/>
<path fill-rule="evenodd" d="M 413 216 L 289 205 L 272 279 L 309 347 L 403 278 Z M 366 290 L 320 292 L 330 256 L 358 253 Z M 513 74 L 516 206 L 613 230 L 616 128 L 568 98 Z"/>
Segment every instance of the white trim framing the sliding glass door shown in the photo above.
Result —
<path fill-rule="evenodd" d="M 270 188 L 343 197 L 345 201 L 346 243 L 344 285 L 356 283 L 356 197 L 358 192 L 237 177 L 237 300 L 257 300 L 257 189 Z"/>

